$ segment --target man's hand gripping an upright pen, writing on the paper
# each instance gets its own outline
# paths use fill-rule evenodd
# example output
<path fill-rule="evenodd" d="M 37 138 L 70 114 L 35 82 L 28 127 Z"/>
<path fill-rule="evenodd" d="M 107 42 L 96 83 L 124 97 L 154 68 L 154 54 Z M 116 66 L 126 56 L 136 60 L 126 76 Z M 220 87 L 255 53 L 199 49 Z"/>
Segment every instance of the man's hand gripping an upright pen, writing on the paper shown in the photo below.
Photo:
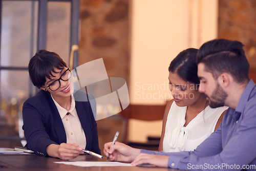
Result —
<path fill-rule="evenodd" d="M 120 142 L 108 142 L 104 144 L 104 155 L 108 157 L 109 154 L 111 161 L 132 162 L 140 154 L 140 149 Z"/>

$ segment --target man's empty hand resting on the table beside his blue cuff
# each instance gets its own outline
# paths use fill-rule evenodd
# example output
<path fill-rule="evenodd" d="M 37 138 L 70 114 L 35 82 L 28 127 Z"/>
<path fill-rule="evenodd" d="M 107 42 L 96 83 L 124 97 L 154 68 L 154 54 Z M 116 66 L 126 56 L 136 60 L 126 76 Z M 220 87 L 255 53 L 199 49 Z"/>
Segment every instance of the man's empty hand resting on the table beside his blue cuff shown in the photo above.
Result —
<path fill-rule="evenodd" d="M 141 153 L 134 161 L 131 163 L 132 165 L 140 165 L 144 163 L 152 164 L 158 167 L 168 167 L 169 156 L 162 155 L 150 155 Z"/>

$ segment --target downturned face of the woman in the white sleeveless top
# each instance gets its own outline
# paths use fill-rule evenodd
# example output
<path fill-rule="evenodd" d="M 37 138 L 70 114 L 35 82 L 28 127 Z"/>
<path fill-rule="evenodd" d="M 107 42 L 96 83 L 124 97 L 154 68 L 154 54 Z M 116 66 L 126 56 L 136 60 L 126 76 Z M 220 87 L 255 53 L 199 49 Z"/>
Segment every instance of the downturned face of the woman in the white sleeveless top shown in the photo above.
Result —
<path fill-rule="evenodd" d="M 176 72 L 169 72 L 169 89 L 178 106 L 188 106 L 195 103 L 201 93 L 196 83 L 183 80 Z"/>

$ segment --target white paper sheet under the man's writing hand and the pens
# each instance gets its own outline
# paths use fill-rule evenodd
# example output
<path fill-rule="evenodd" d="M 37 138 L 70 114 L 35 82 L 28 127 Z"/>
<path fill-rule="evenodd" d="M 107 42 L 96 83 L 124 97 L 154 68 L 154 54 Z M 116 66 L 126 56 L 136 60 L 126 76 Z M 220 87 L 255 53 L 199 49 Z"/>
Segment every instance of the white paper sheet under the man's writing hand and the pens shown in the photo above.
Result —
<path fill-rule="evenodd" d="M 92 167 L 92 166 L 133 166 L 130 163 L 120 163 L 120 162 L 105 162 L 105 161 L 60 161 L 54 162 L 59 164 L 68 164 L 74 166 L 81 166 L 81 167 Z"/>

